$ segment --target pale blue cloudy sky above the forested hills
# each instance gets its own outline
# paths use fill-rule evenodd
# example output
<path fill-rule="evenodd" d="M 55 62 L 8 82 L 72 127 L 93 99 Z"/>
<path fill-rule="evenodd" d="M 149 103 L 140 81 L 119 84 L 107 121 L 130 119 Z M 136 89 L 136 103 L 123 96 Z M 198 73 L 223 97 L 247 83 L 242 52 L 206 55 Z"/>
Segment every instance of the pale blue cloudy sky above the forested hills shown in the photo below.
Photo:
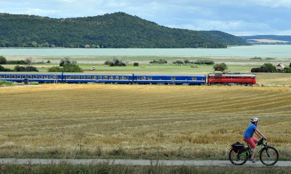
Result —
<path fill-rule="evenodd" d="M 114 12 L 171 28 L 291 35 L 291 0 L 0 0 L 0 13 L 68 18 Z"/>

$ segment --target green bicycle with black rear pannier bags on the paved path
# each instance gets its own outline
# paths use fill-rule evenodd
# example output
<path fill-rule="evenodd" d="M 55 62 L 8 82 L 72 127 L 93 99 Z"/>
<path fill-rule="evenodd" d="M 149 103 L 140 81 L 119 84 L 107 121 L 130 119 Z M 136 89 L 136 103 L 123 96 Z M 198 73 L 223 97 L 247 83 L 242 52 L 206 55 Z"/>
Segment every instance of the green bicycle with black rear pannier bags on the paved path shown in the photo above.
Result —
<path fill-rule="evenodd" d="M 274 147 L 268 146 L 267 144 L 267 140 L 264 141 L 264 138 L 262 138 L 258 142 L 255 153 L 259 151 L 260 161 L 264 165 L 273 166 L 278 161 L 279 153 Z M 249 144 L 248 147 L 244 147 L 243 144 L 239 144 L 239 146 L 232 144 L 231 146 L 232 147 L 230 148 L 228 158 L 232 164 L 240 166 L 246 163 L 249 158 L 251 158 L 252 148 L 249 148 Z"/>

